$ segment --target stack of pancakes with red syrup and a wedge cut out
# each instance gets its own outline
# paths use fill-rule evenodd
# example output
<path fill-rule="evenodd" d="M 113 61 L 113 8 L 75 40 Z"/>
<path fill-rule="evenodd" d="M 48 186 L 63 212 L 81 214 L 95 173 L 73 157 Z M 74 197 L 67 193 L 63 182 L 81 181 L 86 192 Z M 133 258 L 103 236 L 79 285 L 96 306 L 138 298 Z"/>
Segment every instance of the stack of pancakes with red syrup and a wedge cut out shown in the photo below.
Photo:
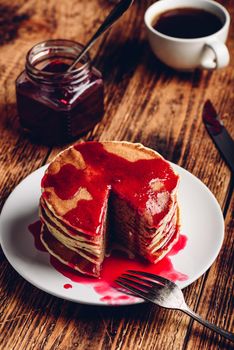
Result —
<path fill-rule="evenodd" d="M 41 241 L 50 254 L 99 277 L 114 243 L 156 263 L 179 237 L 178 175 L 159 153 L 129 142 L 83 142 L 42 179 Z"/>

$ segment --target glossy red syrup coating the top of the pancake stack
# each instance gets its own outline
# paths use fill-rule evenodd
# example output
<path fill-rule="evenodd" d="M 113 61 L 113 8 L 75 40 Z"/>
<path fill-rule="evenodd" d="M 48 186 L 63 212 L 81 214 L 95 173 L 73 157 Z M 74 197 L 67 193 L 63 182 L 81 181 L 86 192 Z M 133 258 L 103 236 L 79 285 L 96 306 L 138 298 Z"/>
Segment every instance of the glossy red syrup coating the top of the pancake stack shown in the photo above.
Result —
<path fill-rule="evenodd" d="M 53 187 L 62 200 L 72 198 L 80 187 L 91 194 L 92 200 L 80 200 L 76 208 L 64 215 L 66 221 L 90 235 L 98 234 L 105 198 L 111 189 L 139 212 L 147 210 L 153 217 L 152 226 L 157 227 L 170 205 L 167 202 L 164 207 L 157 208 L 157 195 L 159 192 L 170 193 L 178 183 L 178 176 L 168 162 L 161 158 L 130 162 L 107 152 L 99 142 L 80 143 L 75 149 L 83 156 L 85 169 L 65 164 L 58 173 L 46 174 L 42 179 L 44 196 L 47 187 Z M 160 179 L 163 190 L 152 190 L 150 183 L 154 179 Z"/>

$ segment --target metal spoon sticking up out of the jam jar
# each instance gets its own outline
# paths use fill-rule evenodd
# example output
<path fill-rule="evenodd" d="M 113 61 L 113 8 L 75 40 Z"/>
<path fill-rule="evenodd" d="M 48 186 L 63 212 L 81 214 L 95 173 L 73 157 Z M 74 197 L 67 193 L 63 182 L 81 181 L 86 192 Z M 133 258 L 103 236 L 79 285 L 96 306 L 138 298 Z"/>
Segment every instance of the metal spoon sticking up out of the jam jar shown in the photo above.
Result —
<path fill-rule="evenodd" d="M 90 47 L 95 43 L 95 41 L 101 36 L 108 28 L 112 26 L 123 14 L 127 11 L 127 9 L 131 6 L 134 0 L 121 0 L 118 4 L 113 8 L 113 10 L 106 17 L 104 22 L 98 28 L 96 33 L 92 36 L 92 38 L 88 41 L 88 43 L 83 47 L 79 55 L 76 57 L 75 61 L 70 65 L 67 72 L 71 72 L 76 64 L 81 60 L 81 58 L 86 54 L 86 52 L 90 49 Z"/>

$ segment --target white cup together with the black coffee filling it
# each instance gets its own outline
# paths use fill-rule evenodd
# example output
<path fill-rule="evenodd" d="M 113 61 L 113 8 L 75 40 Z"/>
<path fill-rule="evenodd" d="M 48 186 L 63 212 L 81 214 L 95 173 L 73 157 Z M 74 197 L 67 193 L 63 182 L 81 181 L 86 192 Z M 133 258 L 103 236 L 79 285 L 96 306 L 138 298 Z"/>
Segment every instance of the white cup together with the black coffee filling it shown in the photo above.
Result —
<path fill-rule="evenodd" d="M 178 70 L 215 69 L 229 63 L 230 16 L 212 0 L 160 0 L 145 13 L 155 55 Z"/>

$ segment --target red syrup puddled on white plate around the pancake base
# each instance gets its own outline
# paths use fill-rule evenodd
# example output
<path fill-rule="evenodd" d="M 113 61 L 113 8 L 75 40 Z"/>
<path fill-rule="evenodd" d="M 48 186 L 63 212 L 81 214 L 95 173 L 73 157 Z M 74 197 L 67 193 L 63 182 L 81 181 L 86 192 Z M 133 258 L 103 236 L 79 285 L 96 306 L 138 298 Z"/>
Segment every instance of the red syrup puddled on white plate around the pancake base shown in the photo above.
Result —
<path fill-rule="evenodd" d="M 36 221 L 28 226 L 29 231 L 34 237 L 34 244 L 36 249 L 47 252 L 40 241 L 40 228 L 40 221 Z M 84 277 L 79 272 L 76 272 L 68 266 L 63 265 L 53 256 L 50 256 L 50 263 L 59 273 L 70 279 L 70 281 L 74 283 L 90 285 L 93 287 L 95 292 L 100 295 L 100 301 L 110 305 L 121 305 L 121 303 L 130 304 L 138 300 L 138 298 L 121 293 L 120 291 L 113 288 L 116 278 L 126 272 L 126 270 L 139 270 L 161 275 L 174 282 L 187 280 L 188 276 L 176 271 L 170 259 L 170 256 L 176 255 L 179 251 L 184 249 L 186 242 L 187 237 L 180 235 L 179 241 L 174 245 L 171 251 L 157 264 L 152 264 L 142 259 L 129 259 L 126 254 L 120 251 L 114 251 L 109 257 L 105 258 L 101 277 L 99 279 Z M 47 252 L 47 254 L 49 253 Z M 72 284 L 66 283 L 63 285 L 63 288 L 69 290 L 72 288 Z"/>

